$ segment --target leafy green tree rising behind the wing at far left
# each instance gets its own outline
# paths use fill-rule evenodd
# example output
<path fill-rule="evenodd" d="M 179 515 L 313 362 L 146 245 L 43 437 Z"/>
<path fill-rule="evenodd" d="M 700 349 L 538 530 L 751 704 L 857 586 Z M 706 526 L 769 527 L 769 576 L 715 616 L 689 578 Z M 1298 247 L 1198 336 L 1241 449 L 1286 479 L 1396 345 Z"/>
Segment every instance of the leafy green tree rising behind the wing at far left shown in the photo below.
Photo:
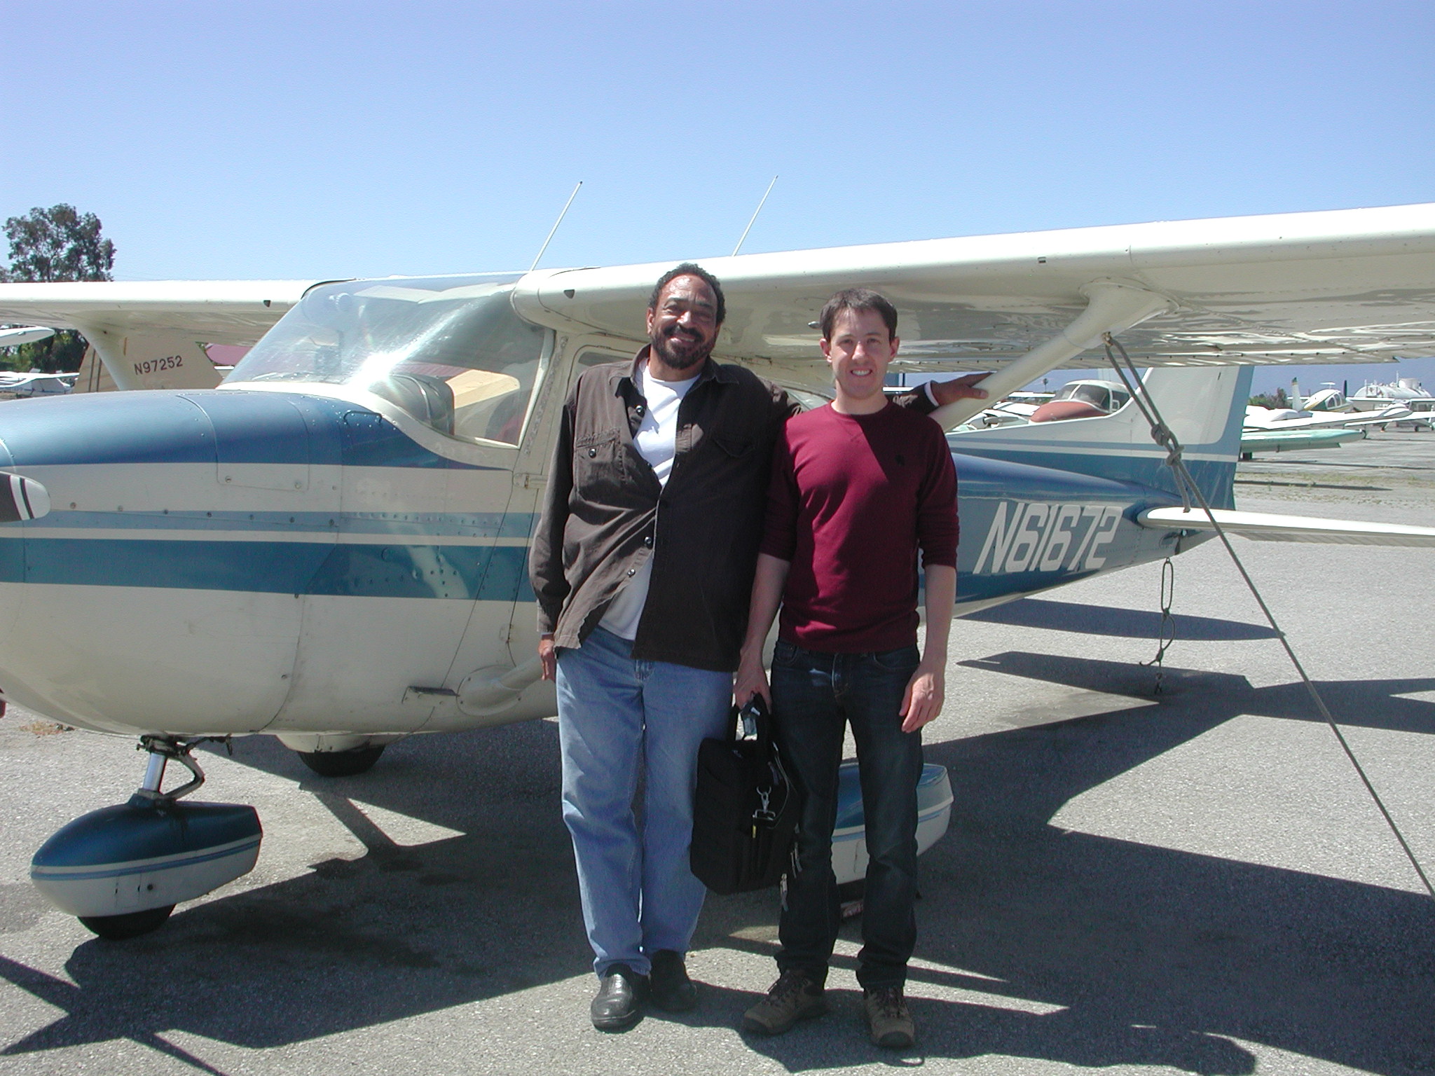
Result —
<path fill-rule="evenodd" d="M 0 281 L 113 280 L 115 244 L 100 235 L 100 227 L 95 214 L 82 214 L 63 202 L 10 217 L 4 222 L 10 265 L 0 267 Z M 83 357 L 85 340 L 70 330 L 39 343 L 0 349 L 0 363 L 13 370 L 77 370 Z"/>

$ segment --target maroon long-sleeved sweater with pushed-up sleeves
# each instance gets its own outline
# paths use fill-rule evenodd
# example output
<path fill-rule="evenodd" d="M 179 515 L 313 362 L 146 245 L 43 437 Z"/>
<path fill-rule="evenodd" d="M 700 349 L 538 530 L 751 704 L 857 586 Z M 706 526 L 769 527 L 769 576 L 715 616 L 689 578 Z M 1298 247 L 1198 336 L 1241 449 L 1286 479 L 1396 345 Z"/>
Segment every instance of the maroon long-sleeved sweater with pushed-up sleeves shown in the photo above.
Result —
<path fill-rule="evenodd" d="M 957 472 L 941 429 L 888 405 L 788 419 L 762 552 L 792 564 L 778 633 L 828 653 L 917 641 L 917 548 L 957 565 Z"/>

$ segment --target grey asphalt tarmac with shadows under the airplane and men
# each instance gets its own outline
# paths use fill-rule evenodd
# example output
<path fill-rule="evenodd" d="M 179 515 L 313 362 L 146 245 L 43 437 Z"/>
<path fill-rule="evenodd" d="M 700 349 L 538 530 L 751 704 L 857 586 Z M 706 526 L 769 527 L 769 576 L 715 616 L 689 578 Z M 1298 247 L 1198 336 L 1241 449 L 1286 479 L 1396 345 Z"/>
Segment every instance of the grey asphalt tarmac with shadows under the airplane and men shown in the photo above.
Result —
<path fill-rule="evenodd" d="M 1241 508 L 1435 527 L 1435 435 L 1240 469 Z M 1415 854 L 1435 872 L 1435 549 L 1236 539 Z M 951 829 L 923 856 L 916 1049 L 871 1046 L 844 931 L 832 1011 L 752 1039 L 773 894 L 710 898 L 702 1004 L 621 1034 L 594 990 L 558 816 L 557 729 L 392 746 L 321 779 L 268 737 L 211 750 L 258 868 L 100 941 L 27 881 L 122 802 L 122 739 L 0 719 L 0 1075 L 1435 1072 L 1435 900 L 1215 542 L 960 621 L 927 760 Z"/>

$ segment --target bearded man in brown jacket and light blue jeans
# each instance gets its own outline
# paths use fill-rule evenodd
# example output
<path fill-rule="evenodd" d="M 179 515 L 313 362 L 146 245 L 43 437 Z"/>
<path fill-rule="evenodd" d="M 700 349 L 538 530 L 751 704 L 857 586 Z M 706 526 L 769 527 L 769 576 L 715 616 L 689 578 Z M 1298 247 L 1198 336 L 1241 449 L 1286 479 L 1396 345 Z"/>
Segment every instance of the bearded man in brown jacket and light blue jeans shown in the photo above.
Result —
<path fill-rule="evenodd" d="M 644 1001 L 697 1003 L 684 967 L 705 895 L 687 854 L 697 747 L 728 720 L 772 448 L 798 410 L 709 357 L 725 313 L 706 270 L 663 274 L 649 344 L 584 372 L 564 405 L 532 541 L 600 1030 L 631 1026 Z M 982 397 L 979 377 L 898 402 L 930 412 Z"/>

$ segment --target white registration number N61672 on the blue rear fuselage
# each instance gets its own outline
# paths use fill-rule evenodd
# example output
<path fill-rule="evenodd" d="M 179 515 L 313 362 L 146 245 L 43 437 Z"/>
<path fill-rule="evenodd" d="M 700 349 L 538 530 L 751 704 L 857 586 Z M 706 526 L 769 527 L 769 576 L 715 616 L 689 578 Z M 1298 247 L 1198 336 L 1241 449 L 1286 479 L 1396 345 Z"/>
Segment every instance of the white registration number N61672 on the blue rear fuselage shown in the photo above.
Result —
<path fill-rule="evenodd" d="M 973 572 L 1095 571 L 1106 562 L 1122 505 L 1000 501 Z"/>

